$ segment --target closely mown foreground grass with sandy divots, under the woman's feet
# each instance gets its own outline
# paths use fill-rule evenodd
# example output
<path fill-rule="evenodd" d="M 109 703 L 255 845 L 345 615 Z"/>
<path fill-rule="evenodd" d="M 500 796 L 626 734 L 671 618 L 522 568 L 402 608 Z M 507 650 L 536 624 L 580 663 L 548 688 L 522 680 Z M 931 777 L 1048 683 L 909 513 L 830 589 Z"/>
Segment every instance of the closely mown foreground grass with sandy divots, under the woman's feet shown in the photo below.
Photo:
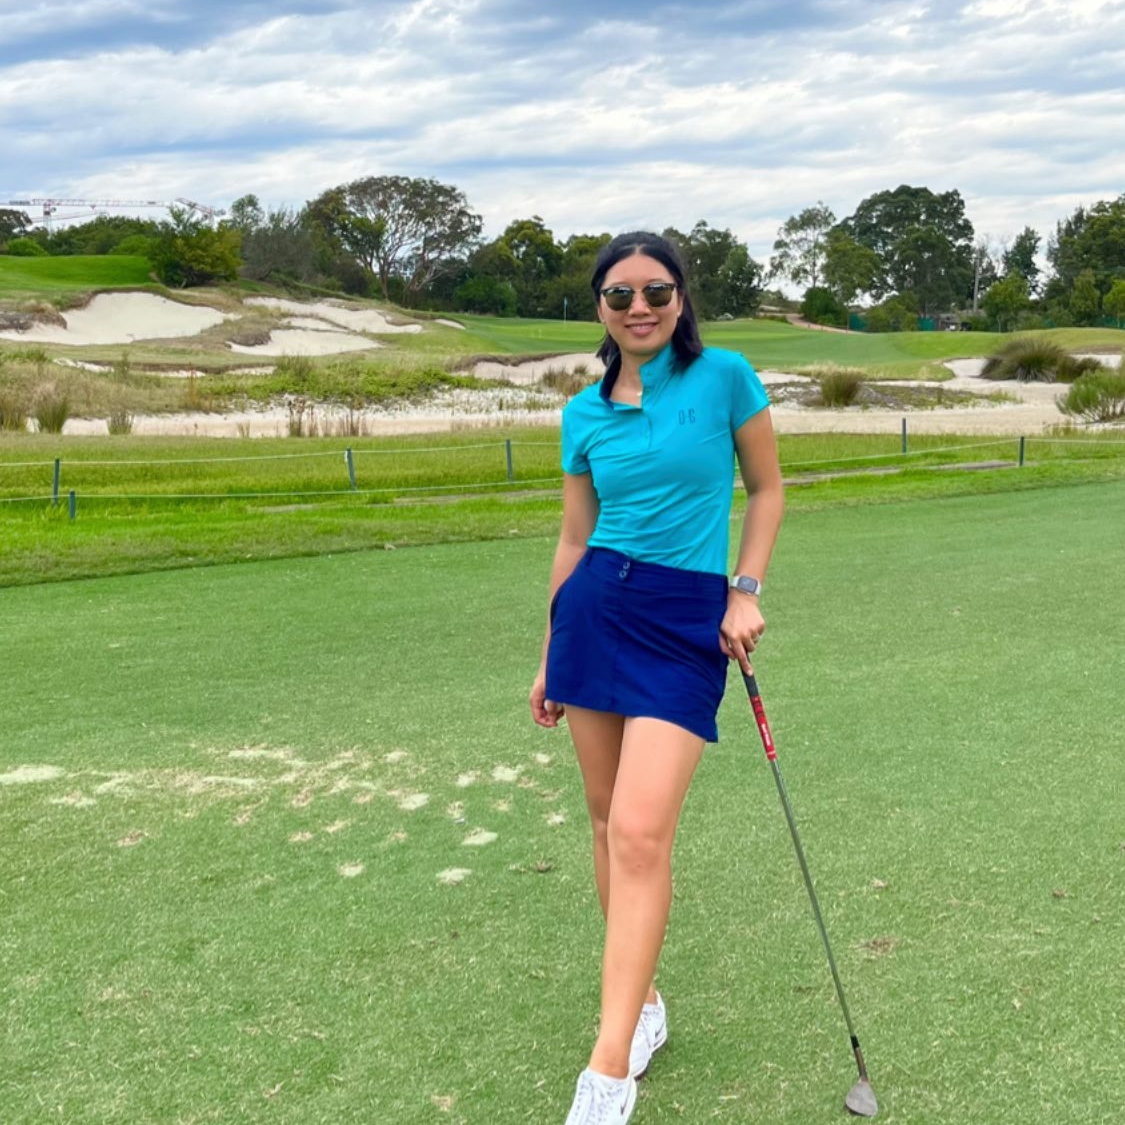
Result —
<path fill-rule="evenodd" d="M 783 529 L 757 672 L 888 1125 L 1125 1101 L 1123 515 L 1116 482 Z M 562 1119 L 602 927 L 525 713 L 551 546 L 0 592 L 0 774 L 57 771 L 0 784 L 7 1125 Z M 638 1125 L 843 1119 L 854 1079 L 730 687 Z"/>

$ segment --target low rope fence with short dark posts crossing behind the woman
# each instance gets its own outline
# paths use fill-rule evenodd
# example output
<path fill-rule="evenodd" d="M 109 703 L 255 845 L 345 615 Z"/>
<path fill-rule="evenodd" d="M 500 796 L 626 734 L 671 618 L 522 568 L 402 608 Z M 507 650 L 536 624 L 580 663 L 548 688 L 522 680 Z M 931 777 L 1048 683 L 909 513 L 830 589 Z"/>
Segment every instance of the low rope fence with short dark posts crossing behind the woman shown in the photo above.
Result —
<path fill-rule="evenodd" d="M 1123 439 L 1101 438 L 1052 438 L 1020 435 L 1016 438 L 990 439 L 988 441 L 968 442 L 957 446 L 937 446 L 925 449 L 908 449 L 906 418 L 902 420 L 902 448 L 900 451 L 885 453 L 866 453 L 855 457 L 831 457 L 807 461 L 786 461 L 782 465 L 783 471 L 819 469 L 825 466 L 845 467 L 855 465 L 857 467 L 875 461 L 909 461 L 919 458 L 929 458 L 938 454 L 962 453 L 966 450 L 996 449 L 999 447 L 1010 447 L 1018 440 L 1015 465 L 1023 467 L 1026 462 L 1026 450 L 1028 441 L 1043 442 L 1046 444 L 1083 446 L 1083 447 L 1120 447 L 1125 450 Z M 246 501 L 246 500 L 280 500 L 280 498 L 316 498 L 326 496 L 338 497 L 363 497 L 363 496 L 386 496 L 386 495 L 423 495 L 425 493 L 474 493 L 488 492 L 496 488 L 508 488 L 512 485 L 520 486 L 557 486 L 561 484 L 561 476 L 534 477 L 519 479 L 515 471 L 514 450 L 518 447 L 526 448 L 559 448 L 558 441 L 513 441 L 505 439 L 503 442 L 476 442 L 462 446 L 438 446 L 402 449 L 360 449 L 353 450 L 350 447 L 344 450 L 313 451 L 305 453 L 264 453 L 248 457 L 214 457 L 214 458 L 168 458 L 162 460 L 70 460 L 65 464 L 75 468 L 151 468 L 156 466 L 198 466 L 198 465 L 233 465 L 262 461 L 294 461 L 300 459 L 324 459 L 342 457 L 348 472 L 346 487 L 340 488 L 294 488 L 294 489 L 271 489 L 269 492 L 182 492 L 182 493 L 111 493 L 111 492 L 83 492 L 83 503 L 90 502 L 144 502 L 144 501 Z M 416 453 L 449 453 L 468 450 L 503 450 L 504 451 L 504 478 L 500 480 L 474 480 L 467 483 L 443 482 L 433 485 L 387 485 L 382 487 L 360 487 L 356 475 L 356 460 L 368 456 L 398 456 L 412 457 Z M 63 459 L 55 458 L 52 461 L 0 461 L 0 469 L 50 469 L 52 471 L 52 489 L 48 495 L 38 494 L 32 496 L 7 496 L 0 497 L 0 504 L 33 504 L 50 503 L 58 506 L 63 495 L 62 469 Z M 848 471 L 845 469 L 845 471 Z M 857 468 L 855 471 L 864 471 Z M 78 492 L 69 489 L 66 492 L 70 518 L 76 518 Z"/>

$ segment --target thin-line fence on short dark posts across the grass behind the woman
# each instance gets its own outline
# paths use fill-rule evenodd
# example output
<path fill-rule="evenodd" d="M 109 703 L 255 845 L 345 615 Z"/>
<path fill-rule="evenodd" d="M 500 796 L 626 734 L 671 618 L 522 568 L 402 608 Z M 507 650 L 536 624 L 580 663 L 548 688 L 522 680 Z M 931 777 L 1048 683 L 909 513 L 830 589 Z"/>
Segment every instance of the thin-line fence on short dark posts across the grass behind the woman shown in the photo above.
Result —
<path fill-rule="evenodd" d="M 1115 453 L 1125 453 L 1125 439 L 1122 438 L 1055 438 L 1055 436 L 1027 436 L 989 439 L 979 442 L 962 442 L 950 446 L 926 446 L 910 449 L 908 447 L 908 434 L 906 420 L 902 423 L 901 448 L 879 453 L 864 453 L 852 457 L 827 457 L 812 460 L 784 460 L 782 471 L 786 479 L 791 479 L 793 474 L 800 472 L 803 476 L 802 483 L 810 476 L 814 479 L 821 476 L 839 476 L 847 474 L 862 474 L 865 471 L 885 471 L 888 464 L 908 468 L 911 464 L 917 465 L 922 459 L 933 461 L 942 457 L 963 457 L 968 452 L 986 449 L 1008 449 L 1010 458 L 1000 462 L 1011 467 L 1023 467 L 1027 462 L 1027 452 L 1030 443 L 1045 446 L 1082 447 L 1086 449 L 1104 448 L 1107 452 L 1112 449 Z M 521 477 L 516 471 L 516 450 L 526 449 L 559 449 L 556 441 L 513 441 L 505 439 L 496 442 L 474 442 L 458 446 L 435 446 L 435 447 L 404 447 L 398 449 L 353 449 L 351 447 L 343 450 L 314 450 L 299 453 L 262 453 L 241 457 L 189 457 L 189 458 L 163 458 L 163 459 L 81 459 L 73 458 L 64 460 L 62 457 L 45 461 L 0 461 L 2 470 L 36 470 L 43 469 L 51 474 L 51 492 L 36 490 L 29 495 L 0 496 L 0 505 L 24 505 L 24 504 L 48 504 L 58 506 L 65 496 L 70 518 L 75 519 L 78 513 L 78 501 L 81 496 L 83 503 L 88 502 L 119 502 L 119 503 L 148 503 L 158 501 L 270 501 L 270 500 L 324 500 L 326 497 L 395 497 L 395 496 L 423 496 L 425 494 L 471 494 L 480 493 L 487 495 L 497 489 L 519 488 L 555 488 L 561 485 L 561 471 L 556 476 L 531 475 Z M 500 468 L 497 458 L 496 475 L 492 479 L 479 480 L 454 480 L 443 479 L 433 484 L 407 484 L 405 480 L 398 484 L 372 484 L 363 483 L 357 476 L 357 460 L 372 457 L 385 459 L 388 457 L 412 458 L 425 454 L 449 454 L 464 453 L 468 451 L 492 451 L 503 452 L 503 469 Z M 102 470 L 137 469 L 137 468 L 169 468 L 173 471 L 191 466 L 206 466 L 208 468 L 223 465 L 245 465 L 249 462 L 269 461 L 299 461 L 338 458 L 343 461 L 344 472 L 341 474 L 340 484 L 327 485 L 325 487 L 286 487 L 280 482 L 277 486 L 263 490 L 246 488 L 228 488 L 223 490 L 177 490 L 161 492 L 152 489 L 147 492 L 114 490 L 111 487 L 96 486 L 89 482 L 83 485 L 80 493 L 78 487 L 63 487 L 64 466 L 68 470 L 79 471 L 89 468 Z M 542 464 L 541 454 L 532 458 L 534 467 Z M 386 464 L 382 461 L 382 464 Z M 556 462 L 557 464 L 557 462 Z M 956 462 L 954 462 L 955 465 Z M 962 464 L 965 464 L 962 461 Z M 930 466 L 933 467 L 933 466 Z M 948 466 L 946 466 L 948 467 Z M 346 484 L 344 483 L 346 474 Z M 792 483 L 796 483 L 792 480 Z M 3 478 L 0 477 L 0 487 Z M 9 507 L 10 510 L 10 507 Z M 2 511 L 2 508 L 0 508 Z"/>

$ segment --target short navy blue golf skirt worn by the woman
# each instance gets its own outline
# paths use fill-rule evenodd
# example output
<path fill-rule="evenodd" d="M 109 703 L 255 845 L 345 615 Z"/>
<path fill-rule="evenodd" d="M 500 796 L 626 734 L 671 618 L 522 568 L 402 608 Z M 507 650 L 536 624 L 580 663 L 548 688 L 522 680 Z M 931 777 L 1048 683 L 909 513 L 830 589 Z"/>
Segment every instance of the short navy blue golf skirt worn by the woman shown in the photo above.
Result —
<path fill-rule="evenodd" d="M 547 698 L 665 719 L 718 741 L 727 588 L 721 574 L 591 547 L 551 602 Z"/>

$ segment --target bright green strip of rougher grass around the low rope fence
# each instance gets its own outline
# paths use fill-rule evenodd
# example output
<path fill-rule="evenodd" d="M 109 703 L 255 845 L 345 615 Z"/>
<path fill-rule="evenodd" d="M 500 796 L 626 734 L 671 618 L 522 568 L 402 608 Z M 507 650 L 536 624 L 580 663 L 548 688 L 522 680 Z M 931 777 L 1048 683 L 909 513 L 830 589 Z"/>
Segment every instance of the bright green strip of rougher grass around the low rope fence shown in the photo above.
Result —
<path fill-rule="evenodd" d="M 908 456 L 900 450 L 891 435 L 782 435 L 782 468 L 793 483 L 789 506 L 1125 477 L 1125 441 L 1108 435 L 1030 439 L 1023 468 L 1016 468 L 1018 439 L 1010 436 L 917 435 Z M 56 457 L 61 504 L 53 507 Z M 550 428 L 299 440 L 0 434 L 0 586 L 551 534 L 559 520 L 558 459 L 558 431 Z M 997 467 L 957 468 L 988 462 Z"/>

